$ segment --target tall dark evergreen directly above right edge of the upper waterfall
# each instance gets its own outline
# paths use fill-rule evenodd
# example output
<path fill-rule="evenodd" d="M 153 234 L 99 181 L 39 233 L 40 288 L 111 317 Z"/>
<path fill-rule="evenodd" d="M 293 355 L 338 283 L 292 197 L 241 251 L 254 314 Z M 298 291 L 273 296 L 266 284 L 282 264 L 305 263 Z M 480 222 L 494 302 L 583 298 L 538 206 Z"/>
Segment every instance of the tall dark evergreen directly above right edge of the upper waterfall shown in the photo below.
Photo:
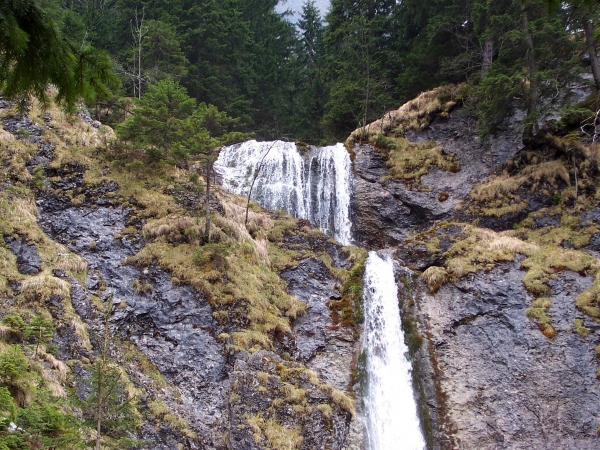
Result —
<path fill-rule="evenodd" d="M 325 30 L 329 92 L 323 123 L 343 138 L 395 104 L 390 72 L 390 0 L 333 0 Z"/>

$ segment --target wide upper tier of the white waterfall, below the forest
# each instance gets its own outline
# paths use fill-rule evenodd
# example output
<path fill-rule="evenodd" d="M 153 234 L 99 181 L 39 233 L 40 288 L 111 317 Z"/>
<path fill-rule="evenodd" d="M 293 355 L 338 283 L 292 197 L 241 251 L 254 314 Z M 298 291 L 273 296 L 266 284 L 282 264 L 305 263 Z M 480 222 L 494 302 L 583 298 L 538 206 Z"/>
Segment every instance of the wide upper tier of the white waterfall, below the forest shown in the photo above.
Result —
<path fill-rule="evenodd" d="M 309 147 L 292 142 L 257 142 L 223 147 L 215 171 L 223 186 L 248 195 L 263 208 L 307 219 L 340 243 L 352 241 L 350 193 L 352 164 L 343 144 Z"/>

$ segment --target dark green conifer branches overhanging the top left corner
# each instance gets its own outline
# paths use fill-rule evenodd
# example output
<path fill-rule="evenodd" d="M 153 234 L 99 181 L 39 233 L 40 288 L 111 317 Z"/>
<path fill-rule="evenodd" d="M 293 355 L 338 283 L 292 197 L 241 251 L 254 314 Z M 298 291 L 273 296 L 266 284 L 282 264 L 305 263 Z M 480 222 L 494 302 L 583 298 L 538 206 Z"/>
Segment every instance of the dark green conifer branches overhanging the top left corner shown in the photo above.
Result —
<path fill-rule="evenodd" d="M 47 104 L 52 83 L 56 100 L 69 110 L 79 98 L 108 95 L 114 77 L 106 52 L 74 46 L 33 0 L 0 3 L 0 89 L 9 98 L 35 96 Z"/>

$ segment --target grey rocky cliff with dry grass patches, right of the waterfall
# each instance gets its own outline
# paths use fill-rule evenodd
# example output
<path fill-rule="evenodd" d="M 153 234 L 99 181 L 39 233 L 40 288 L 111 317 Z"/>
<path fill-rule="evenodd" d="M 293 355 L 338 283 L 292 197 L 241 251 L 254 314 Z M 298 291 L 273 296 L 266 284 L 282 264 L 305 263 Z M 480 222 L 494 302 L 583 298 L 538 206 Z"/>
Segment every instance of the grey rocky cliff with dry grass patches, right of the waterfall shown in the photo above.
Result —
<path fill-rule="evenodd" d="M 375 124 L 385 137 L 353 144 L 353 207 L 360 243 L 395 247 L 428 446 L 597 448 L 594 147 L 567 145 L 560 120 L 524 147 L 516 127 L 480 142 L 461 109 L 403 128 L 407 110 Z M 394 162 L 426 141 L 458 170 L 434 163 L 415 177 Z M 569 155 L 585 162 L 573 168 Z"/>

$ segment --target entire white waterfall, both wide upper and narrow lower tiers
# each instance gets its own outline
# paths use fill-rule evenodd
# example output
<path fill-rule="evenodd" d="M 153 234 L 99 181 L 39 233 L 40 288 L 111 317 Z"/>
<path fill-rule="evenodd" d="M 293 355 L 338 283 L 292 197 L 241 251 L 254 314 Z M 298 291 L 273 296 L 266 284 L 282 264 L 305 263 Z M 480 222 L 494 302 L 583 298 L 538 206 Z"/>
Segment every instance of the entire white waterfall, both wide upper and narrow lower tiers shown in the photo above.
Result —
<path fill-rule="evenodd" d="M 342 244 L 352 240 L 352 170 L 342 144 L 301 152 L 294 143 L 256 142 L 224 147 L 215 170 L 228 190 L 248 195 L 264 208 L 308 219 Z M 258 172 L 257 172 L 258 170 Z M 368 450 L 422 450 L 391 258 L 371 252 L 366 263 L 365 397 Z"/>

